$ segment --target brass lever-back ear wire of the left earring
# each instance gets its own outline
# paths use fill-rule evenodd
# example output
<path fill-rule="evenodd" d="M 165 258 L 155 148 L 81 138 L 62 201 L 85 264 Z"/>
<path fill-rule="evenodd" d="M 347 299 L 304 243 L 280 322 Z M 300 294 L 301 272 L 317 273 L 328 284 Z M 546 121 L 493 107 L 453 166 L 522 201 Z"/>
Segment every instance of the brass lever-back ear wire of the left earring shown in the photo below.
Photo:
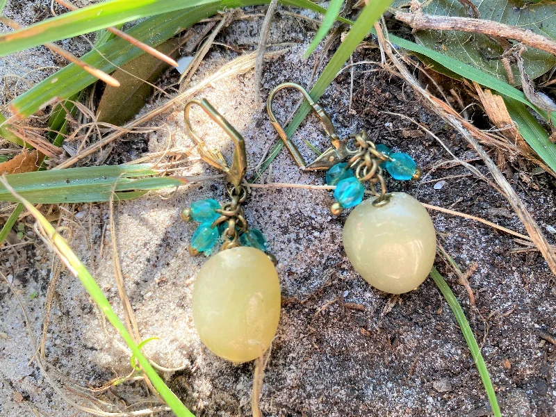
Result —
<path fill-rule="evenodd" d="M 231 140 L 234 141 L 236 145 L 234 149 L 234 160 L 231 163 L 231 167 L 228 167 L 224 156 L 218 149 L 213 149 L 208 147 L 204 140 L 197 136 L 197 133 L 193 131 L 193 127 L 191 126 L 191 121 L 189 117 L 189 112 L 191 106 L 193 104 L 197 104 L 197 106 L 201 107 L 203 111 L 211 117 L 211 119 L 218 124 L 224 131 L 228 134 Z M 245 140 L 243 140 L 243 136 L 234 129 L 232 126 L 218 111 L 208 102 L 207 99 L 194 99 L 188 101 L 188 104 L 183 108 L 183 120 L 186 122 L 187 130 L 193 140 L 197 142 L 197 149 L 199 149 L 199 154 L 201 158 L 206 163 L 209 163 L 213 167 L 222 170 L 224 174 L 226 174 L 226 180 L 233 184 L 236 188 L 242 183 L 243 178 L 245 177 L 245 172 L 247 172 L 247 156 L 245 155 Z"/>

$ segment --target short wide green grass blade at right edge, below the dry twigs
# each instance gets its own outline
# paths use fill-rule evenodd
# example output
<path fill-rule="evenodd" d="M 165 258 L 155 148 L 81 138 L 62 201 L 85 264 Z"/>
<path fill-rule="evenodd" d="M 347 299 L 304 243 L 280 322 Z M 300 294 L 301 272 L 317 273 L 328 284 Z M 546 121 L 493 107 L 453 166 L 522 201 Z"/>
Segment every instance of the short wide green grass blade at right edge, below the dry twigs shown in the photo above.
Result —
<path fill-rule="evenodd" d="M 504 102 L 525 142 L 528 142 L 534 152 L 537 152 L 546 162 L 546 165 L 556 171 L 556 145 L 550 142 L 548 133 L 543 126 L 537 122 L 524 104 L 508 97 L 504 97 Z"/>

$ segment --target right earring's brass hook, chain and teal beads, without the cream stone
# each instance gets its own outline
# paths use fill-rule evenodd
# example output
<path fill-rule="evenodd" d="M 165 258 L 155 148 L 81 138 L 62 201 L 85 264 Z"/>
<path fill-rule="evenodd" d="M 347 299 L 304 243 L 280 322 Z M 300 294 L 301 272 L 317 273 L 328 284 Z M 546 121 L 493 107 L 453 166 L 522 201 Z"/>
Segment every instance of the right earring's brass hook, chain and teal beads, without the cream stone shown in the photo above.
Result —
<path fill-rule="evenodd" d="M 308 165 L 295 144 L 286 135 L 286 131 L 278 122 L 272 109 L 272 101 L 277 92 L 284 88 L 293 88 L 302 93 L 304 99 L 316 112 L 332 142 L 332 147 Z M 334 215 L 339 215 L 343 208 L 356 206 L 363 200 L 363 183 L 365 182 L 370 184 L 370 191 L 377 197 L 374 204 L 386 204 L 389 194 L 386 193 L 386 183 L 382 175 L 383 167 L 395 179 L 418 179 L 421 176 L 421 171 L 411 156 L 402 153 L 393 154 L 386 145 L 375 145 L 375 142 L 368 138 L 366 131 L 351 134 L 345 139 L 338 138 L 329 115 L 320 104 L 311 99 L 309 92 L 301 85 L 295 83 L 277 85 L 268 96 L 267 111 L 272 126 L 275 127 L 281 140 L 284 141 L 284 145 L 302 170 L 328 170 L 327 183 L 336 186 L 334 197 L 338 200 L 330 208 Z M 350 138 L 356 143 L 356 149 L 347 147 Z M 348 159 L 347 163 L 342 163 L 345 159 Z"/>

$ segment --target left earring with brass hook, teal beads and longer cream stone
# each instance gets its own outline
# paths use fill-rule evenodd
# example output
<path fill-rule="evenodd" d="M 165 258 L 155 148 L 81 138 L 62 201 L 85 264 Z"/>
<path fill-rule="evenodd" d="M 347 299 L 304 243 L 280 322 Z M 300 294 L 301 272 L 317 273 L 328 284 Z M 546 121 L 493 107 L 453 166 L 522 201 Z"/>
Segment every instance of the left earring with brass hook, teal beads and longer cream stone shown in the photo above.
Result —
<path fill-rule="evenodd" d="M 222 154 L 208 147 L 193 131 L 190 108 L 196 104 L 234 141 L 234 159 L 228 167 Z M 252 361 L 274 338 L 280 316 L 280 285 L 275 259 L 257 229 L 250 229 L 242 204 L 249 197 L 243 186 L 247 171 L 243 137 L 206 100 L 192 100 L 183 109 L 190 136 L 201 158 L 224 172 L 230 201 L 194 202 L 181 212 L 186 222 L 200 222 L 193 234 L 190 254 L 211 252 L 222 237 L 222 251 L 211 256 L 197 274 L 193 288 L 193 321 L 201 341 L 214 354 L 236 363 Z"/>

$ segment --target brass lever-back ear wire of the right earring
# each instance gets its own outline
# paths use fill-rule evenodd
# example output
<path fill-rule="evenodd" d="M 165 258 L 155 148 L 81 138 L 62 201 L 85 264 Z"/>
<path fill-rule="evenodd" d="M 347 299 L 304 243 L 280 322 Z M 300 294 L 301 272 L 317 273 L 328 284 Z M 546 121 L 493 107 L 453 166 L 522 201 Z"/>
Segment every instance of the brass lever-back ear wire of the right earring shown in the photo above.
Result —
<path fill-rule="evenodd" d="M 320 122 L 322 122 L 322 126 L 325 129 L 325 132 L 330 137 L 330 142 L 332 142 L 332 147 L 329 147 L 325 152 L 322 152 L 318 158 L 316 158 L 313 162 L 307 164 L 299 152 L 295 144 L 292 142 L 290 138 L 286 135 L 286 131 L 278 122 L 274 111 L 272 110 L 272 101 L 274 100 L 275 95 L 280 90 L 284 88 L 293 88 L 301 92 L 303 95 L 304 100 L 313 108 L 317 117 L 319 118 Z M 301 167 L 304 171 L 320 171 L 320 170 L 328 170 L 336 163 L 343 161 L 347 156 L 353 155 L 357 153 L 355 150 L 351 150 L 347 148 L 347 139 L 340 139 L 336 134 L 336 129 L 334 129 L 334 125 L 332 124 L 332 120 L 330 120 L 329 115 L 326 113 L 325 109 L 320 106 L 320 104 L 316 103 L 309 92 L 307 92 L 301 85 L 296 83 L 282 83 L 278 85 L 274 90 L 270 92 L 268 99 L 266 101 L 266 110 L 268 111 L 268 115 L 270 117 L 270 123 L 278 132 L 281 140 L 284 142 L 284 145 L 288 148 L 291 156 L 293 156 L 297 165 Z"/>

